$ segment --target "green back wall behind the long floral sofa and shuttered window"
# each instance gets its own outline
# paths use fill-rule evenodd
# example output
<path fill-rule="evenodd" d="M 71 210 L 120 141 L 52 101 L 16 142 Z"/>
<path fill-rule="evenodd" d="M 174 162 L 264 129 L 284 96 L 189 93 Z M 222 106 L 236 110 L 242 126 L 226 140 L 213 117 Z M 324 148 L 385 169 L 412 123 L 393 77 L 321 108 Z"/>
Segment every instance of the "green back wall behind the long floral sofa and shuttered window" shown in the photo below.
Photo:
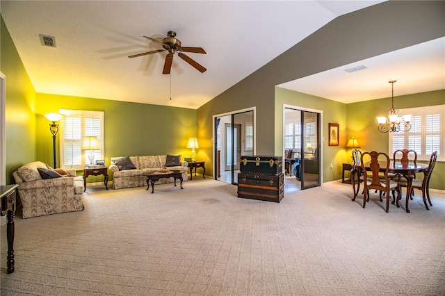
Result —
<path fill-rule="evenodd" d="M 190 155 L 187 140 L 196 136 L 196 110 L 106 99 L 37 94 L 37 159 L 52 163 L 52 135 L 44 114 L 59 108 L 104 111 L 105 164 L 116 156 Z M 60 140 L 60 137 L 58 137 Z M 57 151 L 59 142 L 57 141 Z M 60 163 L 60 160 L 58 160 Z M 92 177 L 88 181 L 94 181 Z"/>

